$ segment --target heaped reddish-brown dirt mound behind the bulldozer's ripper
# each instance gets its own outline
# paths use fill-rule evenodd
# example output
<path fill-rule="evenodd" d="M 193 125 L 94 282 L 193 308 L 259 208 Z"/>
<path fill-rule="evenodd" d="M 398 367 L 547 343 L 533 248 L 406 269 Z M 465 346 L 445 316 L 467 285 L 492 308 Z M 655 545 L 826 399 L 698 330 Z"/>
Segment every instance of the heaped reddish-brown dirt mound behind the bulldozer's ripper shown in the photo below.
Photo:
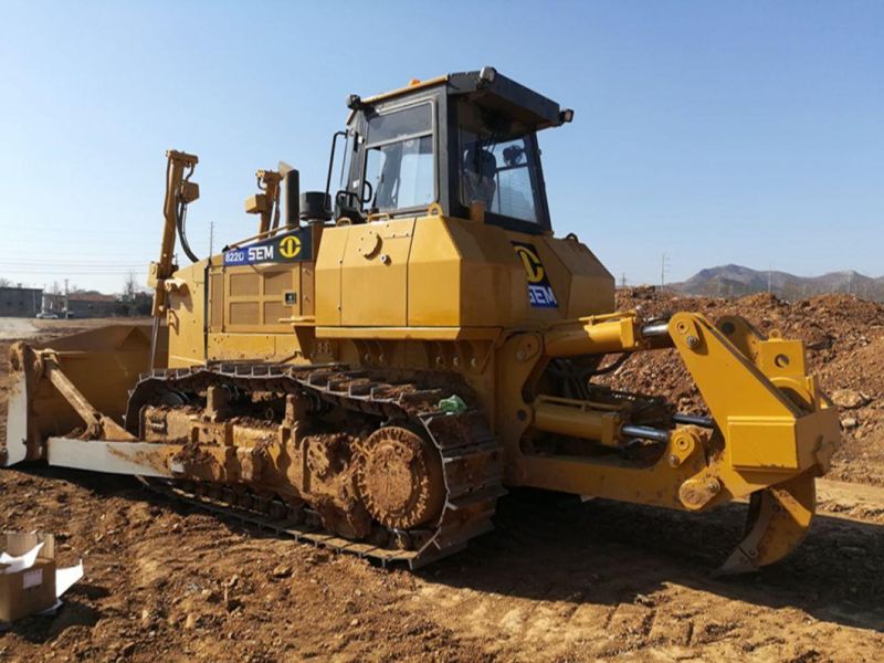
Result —
<path fill-rule="evenodd" d="M 833 475 L 884 485 L 884 305 L 850 295 L 821 295 L 785 302 L 761 293 L 739 299 L 680 297 L 652 287 L 618 293 L 621 309 L 642 317 L 666 317 L 678 311 L 711 320 L 740 315 L 764 334 L 779 330 L 807 344 L 808 367 L 823 389 L 851 392 L 842 407 L 843 446 Z M 600 381 L 615 389 L 661 393 L 685 412 L 704 412 L 694 381 L 675 350 L 641 352 Z M 855 394 L 855 396 L 853 396 Z"/>

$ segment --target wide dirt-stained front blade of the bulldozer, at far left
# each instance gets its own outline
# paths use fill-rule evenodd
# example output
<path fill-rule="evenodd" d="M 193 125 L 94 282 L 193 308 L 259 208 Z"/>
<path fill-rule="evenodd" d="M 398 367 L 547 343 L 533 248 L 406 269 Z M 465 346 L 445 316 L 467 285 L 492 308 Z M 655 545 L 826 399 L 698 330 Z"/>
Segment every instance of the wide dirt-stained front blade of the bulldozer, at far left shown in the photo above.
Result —
<path fill-rule="evenodd" d="M 164 334 L 158 344 L 161 362 L 166 338 Z M 148 369 L 149 354 L 147 325 L 112 325 L 45 344 L 14 344 L 0 467 L 45 459 L 51 435 L 81 431 L 78 435 L 126 439 L 120 423 L 128 390 Z"/>

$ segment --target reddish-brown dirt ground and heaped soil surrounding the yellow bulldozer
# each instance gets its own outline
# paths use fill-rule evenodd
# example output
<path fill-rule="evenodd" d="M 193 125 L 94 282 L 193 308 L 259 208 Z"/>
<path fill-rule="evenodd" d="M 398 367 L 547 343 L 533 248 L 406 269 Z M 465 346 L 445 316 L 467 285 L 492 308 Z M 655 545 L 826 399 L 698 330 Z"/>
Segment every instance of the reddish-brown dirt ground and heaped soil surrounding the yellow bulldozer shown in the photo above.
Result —
<path fill-rule="evenodd" d="M 740 312 L 808 340 L 825 389 L 850 391 L 830 475 L 839 481 L 819 482 L 821 514 L 782 564 L 711 577 L 739 537 L 744 505 L 697 516 L 514 492 L 496 529 L 465 552 L 413 573 L 385 570 L 220 522 L 134 480 L 33 465 L 0 472 L 0 525 L 55 532 L 61 562 L 82 557 L 86 577 L 57 617 L 0 634 L 0 660 L 881 660 L 884 308 L 642 291 L 621 304 L 648 315 Z M 34 320 L 29 334 L 72 323 Z M 634 357 L 611 381 L 702 408 L 667 352 Z"/>

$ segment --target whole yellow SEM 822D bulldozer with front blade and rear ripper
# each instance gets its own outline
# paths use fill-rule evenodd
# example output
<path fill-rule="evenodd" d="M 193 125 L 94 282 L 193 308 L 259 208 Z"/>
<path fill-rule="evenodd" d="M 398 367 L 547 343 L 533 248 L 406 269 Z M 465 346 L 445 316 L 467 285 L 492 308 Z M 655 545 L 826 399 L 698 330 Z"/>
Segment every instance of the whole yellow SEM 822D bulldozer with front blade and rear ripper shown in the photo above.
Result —
<path fill-rule="evenodd" d="M 840 441 L 802 343 L 617 311 L 612 275 L 551 225 L 538 134 L 571 109 L 490 66 L 347 107 L 325 191 L 259 170 L 257 232 L 203 259 L 186 232 L 198 158 L 167 152 L 151 323 L 13 345 L 0 465 L 134 475 L 411 568 L 492 529 L 516 487 L 748 501 L 725 573 L 800 544 Z M 667 348 L 704 412 L 599 383 Z"/>

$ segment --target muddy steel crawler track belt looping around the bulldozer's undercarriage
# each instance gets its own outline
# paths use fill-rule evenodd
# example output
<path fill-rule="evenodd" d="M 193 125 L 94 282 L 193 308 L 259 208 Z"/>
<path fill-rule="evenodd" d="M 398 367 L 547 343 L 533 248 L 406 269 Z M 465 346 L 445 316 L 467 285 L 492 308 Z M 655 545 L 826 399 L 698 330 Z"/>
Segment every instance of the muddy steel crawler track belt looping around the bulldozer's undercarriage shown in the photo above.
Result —
<path fill-rule="evenodd" d="M 210 385 L 229 385 L 240 390 L 306 394 L 322 407 L 343 408 L 383 423 L 423 430 L 442 459 L 446 491 L 442 514 L 432 530 L 390 530 L 389 538 L 394 543 L 383 546 L 323 530 L 318 519 L 311 517 L 309 508 L 297 517 L 280 518 L 273 514 L 269 499 L 243 499 L 242 491 L 230 486 L 197 490 L 192 482 L 143 480 L 152 491 L 278 535 L 372 558 L 382 565 L 407 562 L 417 568 L 463 549 L 471 538 L 491 530 L 497 498 L 505 491 L 501 449 L 482 411 L 475 403 L 467 403 L 463 412 L 445 413 L 439 409 L 439 401 L 451 394 L 450 389 L 434 388 L 429 379 L 422 381 L 413 373 L 409 378 L 337 365 L 301 369 L 235 364 L 156 370 L 141 376 L 130 392 L 126 422 L 130 430 L 137 428 L 140 408 L 162 391 L 192 392 Z"/>

